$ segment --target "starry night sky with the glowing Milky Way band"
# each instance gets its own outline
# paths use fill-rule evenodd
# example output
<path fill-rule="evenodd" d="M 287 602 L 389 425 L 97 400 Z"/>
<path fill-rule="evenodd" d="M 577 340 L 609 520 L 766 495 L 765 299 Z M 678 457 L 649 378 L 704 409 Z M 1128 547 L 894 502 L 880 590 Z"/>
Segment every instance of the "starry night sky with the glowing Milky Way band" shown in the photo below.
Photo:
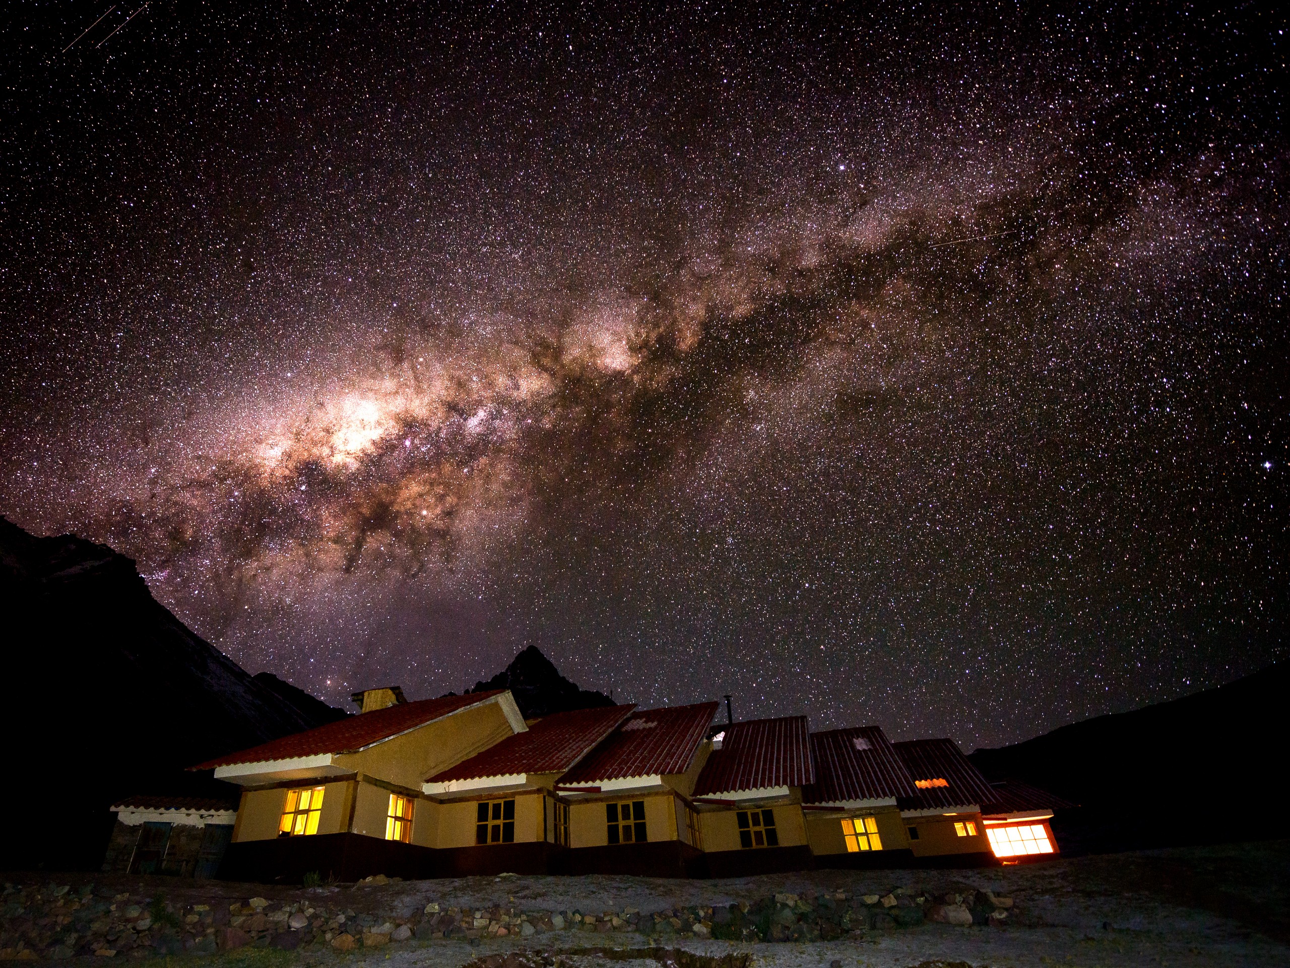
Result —
<path fill-rule="evenodd" d="M 248 670 L 971 749 L 1286 656 L 1275 4 L 110 6 L 0 28 L 0 514 Z"/>

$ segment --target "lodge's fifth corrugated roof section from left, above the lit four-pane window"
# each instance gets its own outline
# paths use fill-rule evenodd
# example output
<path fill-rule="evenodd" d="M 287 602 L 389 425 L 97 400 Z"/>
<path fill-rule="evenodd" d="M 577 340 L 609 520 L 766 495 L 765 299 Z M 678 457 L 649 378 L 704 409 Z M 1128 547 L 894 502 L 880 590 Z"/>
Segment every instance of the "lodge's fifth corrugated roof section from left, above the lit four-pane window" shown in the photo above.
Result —
<path fill-rule="evenodd" d="M 802 803 L 841 803 L 913 796 L 913 777 L 878 727 L 811 733 L 815 782 L 802 790 Z"/>

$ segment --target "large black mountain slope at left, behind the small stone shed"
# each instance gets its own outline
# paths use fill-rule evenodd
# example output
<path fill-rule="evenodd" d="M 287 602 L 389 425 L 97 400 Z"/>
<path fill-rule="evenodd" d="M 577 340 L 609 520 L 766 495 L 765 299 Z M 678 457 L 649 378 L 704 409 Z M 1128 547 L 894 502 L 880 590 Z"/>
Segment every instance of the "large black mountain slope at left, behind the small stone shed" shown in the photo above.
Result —
<path fill-rule="evenodd" d="M 203 641 L 124 555 L 67 534 L 37 538 L 3 518 L 0 662 L 9 869 L 97 867 L 119 798 L 236 799 L 184 767 L 346 715 Z"/>

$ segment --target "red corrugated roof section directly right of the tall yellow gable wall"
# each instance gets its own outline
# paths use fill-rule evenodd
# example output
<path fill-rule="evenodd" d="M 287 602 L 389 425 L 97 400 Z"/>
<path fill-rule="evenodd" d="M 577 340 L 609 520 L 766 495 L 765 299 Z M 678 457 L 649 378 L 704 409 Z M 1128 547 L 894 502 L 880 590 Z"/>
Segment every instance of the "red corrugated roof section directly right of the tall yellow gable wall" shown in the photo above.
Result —
<path fill-rule="evenodd" d="M 430 782 L 516 773 L 562 773 L 609 736 L 633 709 L 635 705 L 601 706 L 555 712 L 534 723 L 526 733 L 510 736 L 464 763 L 436 773 Z"/>

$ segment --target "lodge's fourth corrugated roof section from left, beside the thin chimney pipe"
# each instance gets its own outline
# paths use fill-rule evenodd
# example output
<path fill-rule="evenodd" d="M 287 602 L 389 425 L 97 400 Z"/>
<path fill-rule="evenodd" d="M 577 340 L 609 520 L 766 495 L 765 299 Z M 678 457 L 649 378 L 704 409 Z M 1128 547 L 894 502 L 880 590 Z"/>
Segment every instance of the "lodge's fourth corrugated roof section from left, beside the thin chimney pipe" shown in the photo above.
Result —
<path fill-rule="evenodd" d="M 699 773 L 695 796 L 814 782 L 806 716 L 749 719 L 726 727 Z"/>

